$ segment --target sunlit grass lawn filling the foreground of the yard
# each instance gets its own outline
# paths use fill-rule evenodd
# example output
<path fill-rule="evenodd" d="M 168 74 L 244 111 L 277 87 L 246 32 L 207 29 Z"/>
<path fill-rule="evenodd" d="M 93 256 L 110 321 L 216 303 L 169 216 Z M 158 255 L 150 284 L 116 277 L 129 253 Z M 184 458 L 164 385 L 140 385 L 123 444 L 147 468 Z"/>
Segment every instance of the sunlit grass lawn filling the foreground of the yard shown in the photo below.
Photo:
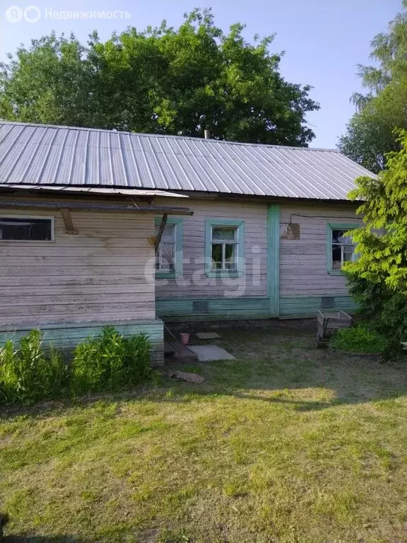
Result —
<path fill-rule="evenodd" d="M 3 413 L 10 541 L 407 542 L 407 366 L 221 334 L 203 385 Z"/>

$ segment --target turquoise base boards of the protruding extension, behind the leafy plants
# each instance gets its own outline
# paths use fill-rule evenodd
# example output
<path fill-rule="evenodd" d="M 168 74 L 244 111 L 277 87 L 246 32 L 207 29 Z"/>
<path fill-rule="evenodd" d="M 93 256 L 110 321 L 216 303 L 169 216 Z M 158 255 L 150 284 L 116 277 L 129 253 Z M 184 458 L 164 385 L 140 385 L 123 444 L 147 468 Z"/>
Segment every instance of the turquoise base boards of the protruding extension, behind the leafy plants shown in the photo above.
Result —
<path fill-rule="evenodd" d="M 134 320 L 134 321 L 116 321 L 116 322 L 95 322 L 85 324 L 67 324 L 67 325 L 41 325 L 39 328 L 44 334 L 45 344 L 52 344 L 61 349 L 73 349 L 78 343 L 89 336 L 97 336 L 102 332 L 106 325 L 114 326 L 120 334 L 131 336 L 146 332 L 151 341 L 152 354 L 151 361 L 155 364 L 164 362 L 164 324 L 160 319 L 155 320 Z M 33 329 L 30 327 L 18 327 L 18 329 L 1 329 L 0 346 L 8 339 L 18 340 L 27 332 Z"/>

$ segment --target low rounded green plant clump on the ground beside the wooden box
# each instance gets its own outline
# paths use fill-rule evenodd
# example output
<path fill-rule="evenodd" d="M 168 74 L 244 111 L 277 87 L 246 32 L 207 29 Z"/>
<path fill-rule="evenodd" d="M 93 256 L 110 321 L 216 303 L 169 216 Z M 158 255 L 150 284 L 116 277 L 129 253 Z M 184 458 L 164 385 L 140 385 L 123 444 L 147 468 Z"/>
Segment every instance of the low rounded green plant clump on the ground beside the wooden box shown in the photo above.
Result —
<path fill-rule="evenodd" d="M 387 339 L 374 329 L 359 325 L 339 329 L 331 340 L 331 346 L 355 354 L 383 353 L 387 350 Z"/>

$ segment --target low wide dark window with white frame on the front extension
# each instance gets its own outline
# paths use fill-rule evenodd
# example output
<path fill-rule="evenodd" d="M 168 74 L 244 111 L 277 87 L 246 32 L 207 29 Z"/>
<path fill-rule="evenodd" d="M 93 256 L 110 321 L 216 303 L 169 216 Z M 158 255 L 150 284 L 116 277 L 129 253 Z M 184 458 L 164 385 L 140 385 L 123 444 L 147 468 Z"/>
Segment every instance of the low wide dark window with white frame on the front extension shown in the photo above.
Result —
<path fill-rule="evenodd" d="M 1 241 L 53 241 L 54 218 L 0 217 Z"/>

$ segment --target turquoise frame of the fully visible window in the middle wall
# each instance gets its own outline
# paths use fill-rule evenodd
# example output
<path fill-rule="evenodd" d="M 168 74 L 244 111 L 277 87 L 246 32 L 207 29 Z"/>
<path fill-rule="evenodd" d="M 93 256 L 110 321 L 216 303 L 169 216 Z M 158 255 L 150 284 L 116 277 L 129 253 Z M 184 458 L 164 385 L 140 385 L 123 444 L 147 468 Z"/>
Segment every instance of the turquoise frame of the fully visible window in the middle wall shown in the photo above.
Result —
<path fill-rule="evenodd" d="M 216 227 L 232 227 L 235 229 L 235 238 L 233 240 L 213 240 L 213 229 Z M 218 241 L 218 243 L 216 243 Z M 230 243 L 228 243 L 228 241 Z M 226 252 L 230 250 L 227 245 L 234 245 L 234 269 L 215 269 L 213 267 L 213 246 L 221 251 L 220 264 L 222 266 L 230 265 Z M 239 218 L 207 218 L 206 236 L 205 236 L 205 274 L 208 277 L 242 277 L 244 273 L 244 221 Z"/>

